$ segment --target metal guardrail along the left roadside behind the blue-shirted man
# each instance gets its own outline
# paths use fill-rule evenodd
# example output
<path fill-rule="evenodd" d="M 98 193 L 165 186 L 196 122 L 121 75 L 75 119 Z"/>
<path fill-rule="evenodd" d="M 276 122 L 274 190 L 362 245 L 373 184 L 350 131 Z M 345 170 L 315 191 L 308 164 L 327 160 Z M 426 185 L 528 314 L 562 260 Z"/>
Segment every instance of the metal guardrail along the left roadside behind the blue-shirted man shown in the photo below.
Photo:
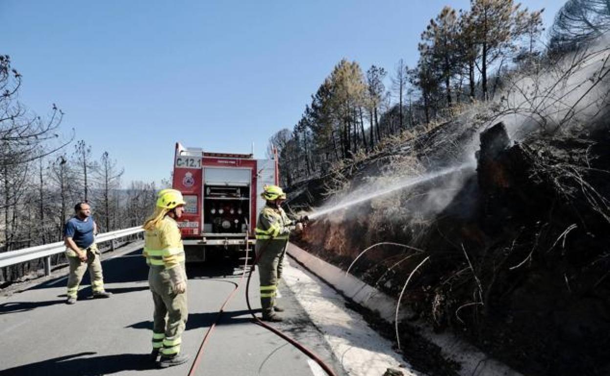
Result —
<path fill-rule="evenodd" d="M 123 236 L 134 235 L 136 233 L 143 232 L 141 226 L 130 227 L 129 229 L 115 230 L 111 232 L 101 233 L 95 236 L 95 243 L 103 243 L 104 241 L 110 241 Z M 114 242 L 112 243 L 112 249 L 114 250 Z M 66 249 L 63 241 L 57 243 L 43 244 L 42 246 L 29 247 L 18 250 L 11 250 L 10 252 L 0 253 L 0 268 L 4 266 L 24 263 L 30 260 L 36 260 L 37 258 L 45 258 L 45 275 L 51 274 L 51 256 L 60 254 Z"/>

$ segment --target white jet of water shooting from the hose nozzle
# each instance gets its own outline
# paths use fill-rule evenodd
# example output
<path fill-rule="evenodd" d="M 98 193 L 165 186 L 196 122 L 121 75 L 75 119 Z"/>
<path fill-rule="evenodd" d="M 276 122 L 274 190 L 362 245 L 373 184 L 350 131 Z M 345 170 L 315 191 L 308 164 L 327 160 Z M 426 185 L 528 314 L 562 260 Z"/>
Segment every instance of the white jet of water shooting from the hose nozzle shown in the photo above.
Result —
<path fill-rule="evenodd" d="M 353 206 L 356 204 L 361 204 L 362 202 L 374 199 L 375 197 L 384 196 L 384 195 L 392 193 L 394 191 L 403 190 L 404 188 L 417 186 L 422 183 L 428 182 L 429 180 L 436 179 L 437 177 L 453 174 L 454 172 L 462 171 L 464 169 L 473 168 L 473 167 L 474 167 L 474 163 L 472 161 L 469 161 L 467 163 L 462 163 L 462 165 L 459 165 L 459 166 L 442 169 L 442 170 L 436 171 L 436 172 L 429 172 L 428 174 L 423 174 L 422 176 L 418 176 L 418 177 L 411 177 L 409 179 L 403 180 L 402 182 L 390 185 L 389 187 L 384 188 L 381 191 L 368 193 L 362 197 L 357 197 L 356 199 L 352 199 L 347 202 L 340 202 L 339 204 L 334 205 L 332 207 L 328 207 L 328 208 L 318 210 L 318 211 L 313 211 L 312 213 L 309 213 L 307 216 L 304 216 L 302 218 L 306 218 L 307 222 L 309 222 L 320 216 L 326 215 L 328 213 L 332 213 L 333 211 L 345 209 L 347 207 L 350 207 L 350 206 Z"/>

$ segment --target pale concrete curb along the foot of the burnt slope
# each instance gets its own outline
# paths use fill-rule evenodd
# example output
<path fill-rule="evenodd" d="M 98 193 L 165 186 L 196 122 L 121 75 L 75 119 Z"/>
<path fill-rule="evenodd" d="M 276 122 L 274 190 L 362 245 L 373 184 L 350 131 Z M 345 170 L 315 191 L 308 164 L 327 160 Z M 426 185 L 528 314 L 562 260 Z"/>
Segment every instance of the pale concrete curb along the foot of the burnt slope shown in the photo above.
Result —
<path fill-rule="evenodd" d="M 287 252 L 337 291 L 370 310 L 379 311 L 381 317 L 387 322 L 394 322 L 397 299 L 367 285 L 351 274 L 346 275 L 342 269 L 309 254 L 295 244 L 290 243 Z M 400 314 L 400 317 L 404 318 L 407 314 L 408 311 Z M 489 358 L 476 347 L 451 333 L 434 333 L 432 328 L 422 322 L 410 322 L 409 324 L 417 327 L 426 339 L 439 346 L 443 356 L 461 364 L 462 367 L 459 370 L 461 376 L 523 376 L 506 364 Z"/>

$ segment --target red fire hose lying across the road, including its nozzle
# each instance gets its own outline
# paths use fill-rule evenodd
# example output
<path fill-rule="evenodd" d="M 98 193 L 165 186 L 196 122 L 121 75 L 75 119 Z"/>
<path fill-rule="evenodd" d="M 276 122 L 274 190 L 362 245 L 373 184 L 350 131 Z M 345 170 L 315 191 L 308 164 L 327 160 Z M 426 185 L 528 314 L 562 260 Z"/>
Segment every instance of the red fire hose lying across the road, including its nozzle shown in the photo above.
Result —
<path fill-rule="evenodd" d="M 309 218 L 307 218 L 305 216 L 305 217 L 301 217 L 300 219 L 298 219 L 295 223 L 301 222 L 302 224 L 306 224 L 308 221 L 309 221 Z M 246 280 L 246 305 L 248 305 L 248 311 L 249 311 L 249 313 L 253 317 L 253 322 L 255 324 L 258 324 L 258 325 L 264 327 L 265 329 L 269 330 L 270 332 L 274 333 L 275 335 L 279 336 L 280 338 L 282 338 L 285 341 L 287 341 L 290 344 L 292 344 L 292 346 L 296 347 L 296 349 L 300 350 L 302 353 L 307 355 L 311 360 L 315 361 L 315 363 L 317 363 L 324 370 L 324 372 L 326 372 L 326 374 L 328 376 L 336 376 L 336 374 L 332 371 L 331 367 L 329 367 L 328 364 L 324 363 L 324 361 L 321 360 L 317 355 L 315 355 L 315 353 L 313 353 L 311 350 L 307 349 L 307 347 L 303 346 L 302 344 L 300 344 L 295 339 L 290 338 L 289 336 L 287 336 L 284 333 L 280 332 L 278 329 L 276 329 L 274 327 L 271 327 L 271 325 L 265 324 L 265 322 L 261 321 L 259 319 L 259 317 L 257 317 L 256 314 L 254 314 L 254 311 L 253 311 L 253 309 L 252 309 L 252 307 L 250 305 L 250 299 L 249 299 L 249 296 L 248 296 L 248 291 L 249 291 L 249 286 L 250 286 L 250 280 L 252 278 L 252 273 L 254 271 L 254 266 L 256 266 L 256 264 L 258 263 L 260 257 L 265 252 L 265 248 L 266 247 L 261 247 L 258 250 L 258 252 L 256 252 L 257 255 L 254 258 L 254 261 L 253 261 L 252 266 L 251 266 L 251 268 L 249 270 L 249 273 L 248 273 L 248 279 Z M 223 314 L 224 307 L 226 307 L 226 305 L 231 301 L 231 299 L 233 298 L 233 296 L 235 295 L 235 293 L 239 289 L 239 286 L 242 284 L 242 282 L 243 282 L 243 280 L 245 278 L 246 271 L 248 270 L 247 269 L 247 266 L 248 266 L 248 254 L 249 254 L 249 248 L 248 248 L 248 241 L 246 239 L 246 257 L 245 257 L 245 263 L 243 265 L 242 276 L 240 277 L 239 283 L 235 284 L 235 288 L 233 289 L 233 291 L 231 291 L 231 293 L 228 295 L 227 299 L 224 300 L 223 304 L 221 305 L 220 309 L 218 310 L 218 314 L 216 316 L 215 321 L 207 329 L 207 332 L 204 335 L 204 338 L 201 341 L 201 345 L 199 346 L 199 349 L 197 351 L 197 355 L 195 356 L 195 361 L 193 361 L 193 364 L 192 364 L 192 366 L 190 368 L 190 371 L 188 371 L 188 376 L 195 376 L 195 371 L 196 371 L 196 369 L 197 369 L 197 367 L 199 365 L 199 362 L 201 361 L 201 356 L 203 356 L 203 352 L 204 352 L 204 349 L 206 347 L 207 341 L 209 340 L 210 336 L 212 336 L 212 332 L 213 332 L 214 328 L 216 327 L 216 324 L 220 320 L 220 317 Z"/>

